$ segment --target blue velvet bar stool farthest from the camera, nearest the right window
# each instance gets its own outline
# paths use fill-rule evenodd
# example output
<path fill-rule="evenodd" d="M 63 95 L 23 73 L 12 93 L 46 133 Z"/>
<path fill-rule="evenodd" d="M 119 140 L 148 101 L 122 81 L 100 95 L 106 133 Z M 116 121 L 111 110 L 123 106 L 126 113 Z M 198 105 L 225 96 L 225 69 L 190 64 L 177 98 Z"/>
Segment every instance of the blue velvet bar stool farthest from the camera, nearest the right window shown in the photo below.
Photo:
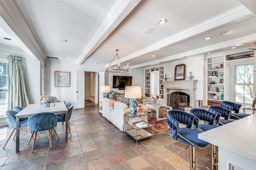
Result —
<path fill-rule="evenodd" d="M 239 113 L 239 109 L 242 106 L 241 104 L 234 103 L 234 102 L 229 102 L 229 101 L 222 101 L 222 102 L 220 102 L 220 106 L 228 108 L 228 109 L 230 109 L 232 107 L 231 110 L 234 111 L 234 113 L 232 112 L 230 114 L 229 119 L 238 120 L 238 119 L 242 119 L 244 117 L 249 116 L 248 114 Z"/>

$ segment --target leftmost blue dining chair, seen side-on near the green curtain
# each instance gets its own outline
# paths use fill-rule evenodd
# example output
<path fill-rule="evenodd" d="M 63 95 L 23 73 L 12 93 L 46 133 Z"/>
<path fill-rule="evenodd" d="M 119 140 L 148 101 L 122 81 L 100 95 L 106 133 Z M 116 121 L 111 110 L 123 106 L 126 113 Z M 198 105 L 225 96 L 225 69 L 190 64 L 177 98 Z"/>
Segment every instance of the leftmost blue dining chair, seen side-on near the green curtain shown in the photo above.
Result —
<path fill-rule="evenodd" d="M 12 136 L 12 134 L 15 132 L 15 130 L 16 130 L 16 114 L 17 114 L 18 112 L 17 111 L 14 111 L 14 110 L 7 110 L 6 111 L 6 118 L 7 118 L 7 121 L 8 121 L 8 126 L 10 127 L 10 128 L 12 128 L 13 130 L 12 130 L 12 132 L 11 132 L 11 134 L 10 134 L 10 136 L 8 137 L 8 139 L 6 140 L 6 142 L 5 142 L 5 144 L 4 144 L 4 147 L 6 146 L 6 144 L 8 143 L 8 141 L 9 141 L 9 139 L 10 139 L 10 137 Z M 19 131 L 20 131 L 20 129 L 22 128 L 22 127 L 26 127 L 26 126 L 28 126 L 28 121 L 26 120 L 26 119 L 24 119 L 24 118 L 20 118 L 20 122 L 19 122 Z M 14 133 L 14 137 L 13 137 L 13 139 L 15 138 L 15 135 L 16 135 L 16 133 Z M 4 149 L 4 147 L 3 147 L 3 149 Z"/>

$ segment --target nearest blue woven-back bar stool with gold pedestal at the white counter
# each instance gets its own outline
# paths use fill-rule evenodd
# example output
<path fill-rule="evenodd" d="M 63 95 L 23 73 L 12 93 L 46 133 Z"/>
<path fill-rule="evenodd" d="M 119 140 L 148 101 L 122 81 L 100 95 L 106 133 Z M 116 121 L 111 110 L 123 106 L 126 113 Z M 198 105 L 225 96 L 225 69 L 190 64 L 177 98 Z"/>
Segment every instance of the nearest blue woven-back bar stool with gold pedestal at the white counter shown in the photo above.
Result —
<path fill-rule="evenodd" d="M 198 134 L 202 133 L 203 131 L 192 129 L 192 124 L 198 124 L 198 117 L 181 110 L 169 110 L 167 112 L 166 119 L 171 129 L 170 136 L 173 139 L 190 146 L 190 170 L 195 170 L 195 168 L 199 167 L 207 168 L 203 165 L 196 166 L 195 162 L 195 147 L 204 149 L 209 144 L 201 139 L 198 139 Z M 180 123 L 185 124 L 186 127 L 180 127 Z M 209 168 L 207 169 L 209 170 Z M 212 169 L 216 169 L 214 164 L 212 164 Z"/>

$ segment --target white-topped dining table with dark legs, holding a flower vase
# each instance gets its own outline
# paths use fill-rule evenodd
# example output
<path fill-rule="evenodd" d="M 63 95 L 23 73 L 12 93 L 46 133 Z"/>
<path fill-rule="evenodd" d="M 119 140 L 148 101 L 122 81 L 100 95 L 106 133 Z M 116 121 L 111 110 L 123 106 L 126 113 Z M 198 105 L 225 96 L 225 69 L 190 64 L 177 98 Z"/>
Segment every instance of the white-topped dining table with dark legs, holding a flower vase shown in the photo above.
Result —
<path fill-rule="evenodd" d="M 16 152 L 20 151 L 20 131 L 19 129 L 19 119 L 23 117 L 30 117 L 35 113 L 41 112 L 52 112 L 55 114 L 65 113 L 66 116 L 66 128 L 65 128 L 65 140 L 68 141 L 68 109 L 64 102 L 56 102 L 55 106 L 50 105 L 50 107 L 41 107 L 40 104 L 29 104 L 27 107 L 22 109 L 16 114 Z"/>

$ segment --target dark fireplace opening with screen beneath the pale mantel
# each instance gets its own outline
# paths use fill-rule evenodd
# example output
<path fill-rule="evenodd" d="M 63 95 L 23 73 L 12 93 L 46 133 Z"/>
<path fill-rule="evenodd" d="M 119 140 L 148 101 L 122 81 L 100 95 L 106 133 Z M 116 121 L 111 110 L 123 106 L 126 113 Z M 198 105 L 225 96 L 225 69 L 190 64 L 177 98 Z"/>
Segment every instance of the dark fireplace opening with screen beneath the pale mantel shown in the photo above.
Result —
<path fill-rule="evenodd" d="M 184 94 L 184 93 L 183 93 Z M 189 107 L 189 95 L 180 94 L 168 94 L 168 106 L 172 106 L 172 109 L 183 110 L 184 107 Z"/>

